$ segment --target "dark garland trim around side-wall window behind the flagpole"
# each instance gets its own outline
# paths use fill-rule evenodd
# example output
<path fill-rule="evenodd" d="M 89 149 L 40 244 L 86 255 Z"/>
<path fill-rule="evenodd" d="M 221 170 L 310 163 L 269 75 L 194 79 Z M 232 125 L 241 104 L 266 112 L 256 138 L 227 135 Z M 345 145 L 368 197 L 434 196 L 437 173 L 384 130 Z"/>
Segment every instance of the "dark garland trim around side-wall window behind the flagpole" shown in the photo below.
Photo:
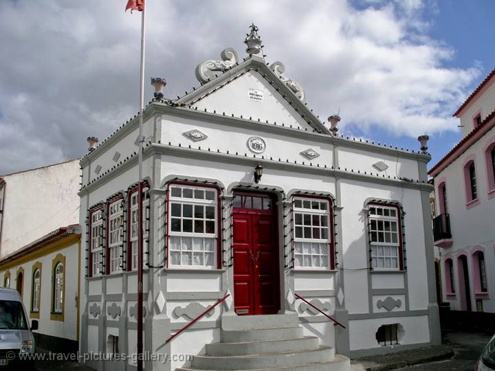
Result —
<path fill-rule="evenodd" d="M 150 198 L 149 198 L 149 185 L 147 182 L 143 183 L 142 186 L 142 191 L 144 194 L 144 199 L 143 199 L 143 205 L 142 205 L 142 212 L 143 212 L 143 263 L 144 266 L 148 267 L 149 266 L 149 225 L 150 225 Z M 125 259 L 125 267 L 126 271 L 135 271 L 137 270 L 137 261 L 136 261 L 136 267 L 134 267 L 134 255 L 136 256 L 137 260 L 137 241 L 138 241 L 138 231 L 136 232 L 136 238 L 133 239 L 132 237 L 132 227 L 133 227 L 133 221 L 132 221 L 132 213 L 135 210 L 139 210 L 139 204 L 136 202 L 135 205 L 132 204 L 133 201 L 133 194 L 137 194 L 137 190 L 139 189 L 139 186 L 133 186 L 132 188 L 129 188 L 129 191 L 127 192 L 127 210 L 126 210 L 126 251 L 124 256 L 126 256 Z M 138 227 L 136 221 L 136 227 Z M 136 254 L 133 254 L 133 243 L 136 243 Z M 144 269 L 146 267 L 143 267 Z"/>

